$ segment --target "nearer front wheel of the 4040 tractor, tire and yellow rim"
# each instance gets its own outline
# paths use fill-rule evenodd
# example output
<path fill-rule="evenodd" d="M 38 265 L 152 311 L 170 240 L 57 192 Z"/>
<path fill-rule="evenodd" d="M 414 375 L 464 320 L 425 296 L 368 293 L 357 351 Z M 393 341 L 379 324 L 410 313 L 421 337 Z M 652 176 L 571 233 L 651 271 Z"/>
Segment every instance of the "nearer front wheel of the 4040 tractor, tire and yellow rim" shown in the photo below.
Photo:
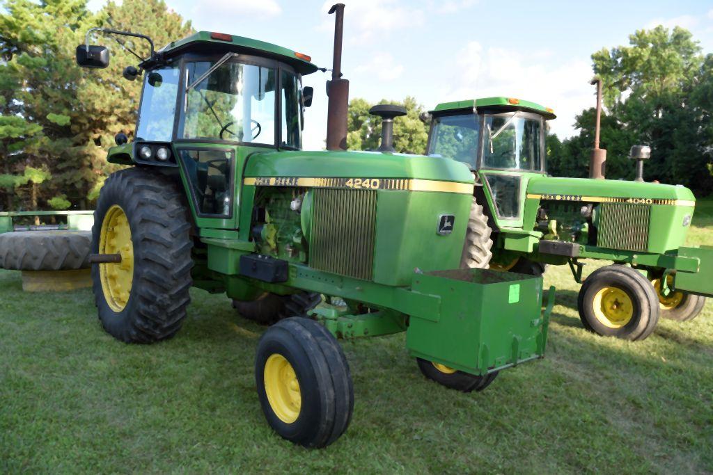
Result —
<path fill-rule="evenodd" d="M 659 301 L 647 278 L 635 269 L 598 268 L 580 288 L 580 319 L 587 330 L 624 340 L 644 340 L 659 320 Z"/>

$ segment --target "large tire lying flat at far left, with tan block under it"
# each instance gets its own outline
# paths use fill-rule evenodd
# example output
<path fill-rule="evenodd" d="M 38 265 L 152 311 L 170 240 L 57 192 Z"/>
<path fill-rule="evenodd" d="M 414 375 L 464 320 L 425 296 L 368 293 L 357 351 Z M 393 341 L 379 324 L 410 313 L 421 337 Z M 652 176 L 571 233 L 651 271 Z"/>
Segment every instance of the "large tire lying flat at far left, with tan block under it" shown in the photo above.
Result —
<path fill-rule="evenodd" d="M 91 287 L 91 231 L 15 231 L 0 234 L 0 268 L 22 271 L 24 291 Z"/>

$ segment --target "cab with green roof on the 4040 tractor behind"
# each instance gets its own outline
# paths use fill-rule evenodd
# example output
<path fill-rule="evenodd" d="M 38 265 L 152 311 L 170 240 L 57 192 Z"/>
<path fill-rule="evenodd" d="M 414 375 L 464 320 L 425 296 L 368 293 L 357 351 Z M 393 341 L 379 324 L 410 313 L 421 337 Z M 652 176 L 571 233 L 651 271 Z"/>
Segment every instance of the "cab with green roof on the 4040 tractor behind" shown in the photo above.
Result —
<path fill-rule="evenodd" d="M 498 226 L 522 226 L 527 180 L 545 174 L 546 121 L 553 110 L 514 98 L 441 103 L 431 111 L 428 153 L 476 175 Z"/>

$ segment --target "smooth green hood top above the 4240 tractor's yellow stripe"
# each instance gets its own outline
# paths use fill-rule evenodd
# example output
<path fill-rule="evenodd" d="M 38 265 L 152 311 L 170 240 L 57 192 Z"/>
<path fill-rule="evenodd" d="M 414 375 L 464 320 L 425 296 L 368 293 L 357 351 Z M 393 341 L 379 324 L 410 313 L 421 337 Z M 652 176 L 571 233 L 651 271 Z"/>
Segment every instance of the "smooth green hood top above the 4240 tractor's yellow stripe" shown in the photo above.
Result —
<path fill-rule="evenodd" d="M 244 176 L 398 178 L 473 184 L 473 174 L 461 162 L 381 152 L 260 152 L 250 155 Z"/>

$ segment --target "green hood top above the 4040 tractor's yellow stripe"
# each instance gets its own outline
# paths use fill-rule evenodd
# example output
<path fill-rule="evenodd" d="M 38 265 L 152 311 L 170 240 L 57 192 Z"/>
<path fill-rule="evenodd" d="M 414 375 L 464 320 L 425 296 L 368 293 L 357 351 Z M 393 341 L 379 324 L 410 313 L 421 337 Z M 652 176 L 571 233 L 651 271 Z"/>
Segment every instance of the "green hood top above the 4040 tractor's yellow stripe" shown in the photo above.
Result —
<path fill-rule="evenodd" d="M 580 197 L 582 201 L 590 201 L 586 197 L 597 197 L 695 202 L 691 190 L 679 185 L 613 179 L 533 177 L 528 182 L 527 192 L 546 197 L 559 195 L 563 197 L 560 199 Z"/>

